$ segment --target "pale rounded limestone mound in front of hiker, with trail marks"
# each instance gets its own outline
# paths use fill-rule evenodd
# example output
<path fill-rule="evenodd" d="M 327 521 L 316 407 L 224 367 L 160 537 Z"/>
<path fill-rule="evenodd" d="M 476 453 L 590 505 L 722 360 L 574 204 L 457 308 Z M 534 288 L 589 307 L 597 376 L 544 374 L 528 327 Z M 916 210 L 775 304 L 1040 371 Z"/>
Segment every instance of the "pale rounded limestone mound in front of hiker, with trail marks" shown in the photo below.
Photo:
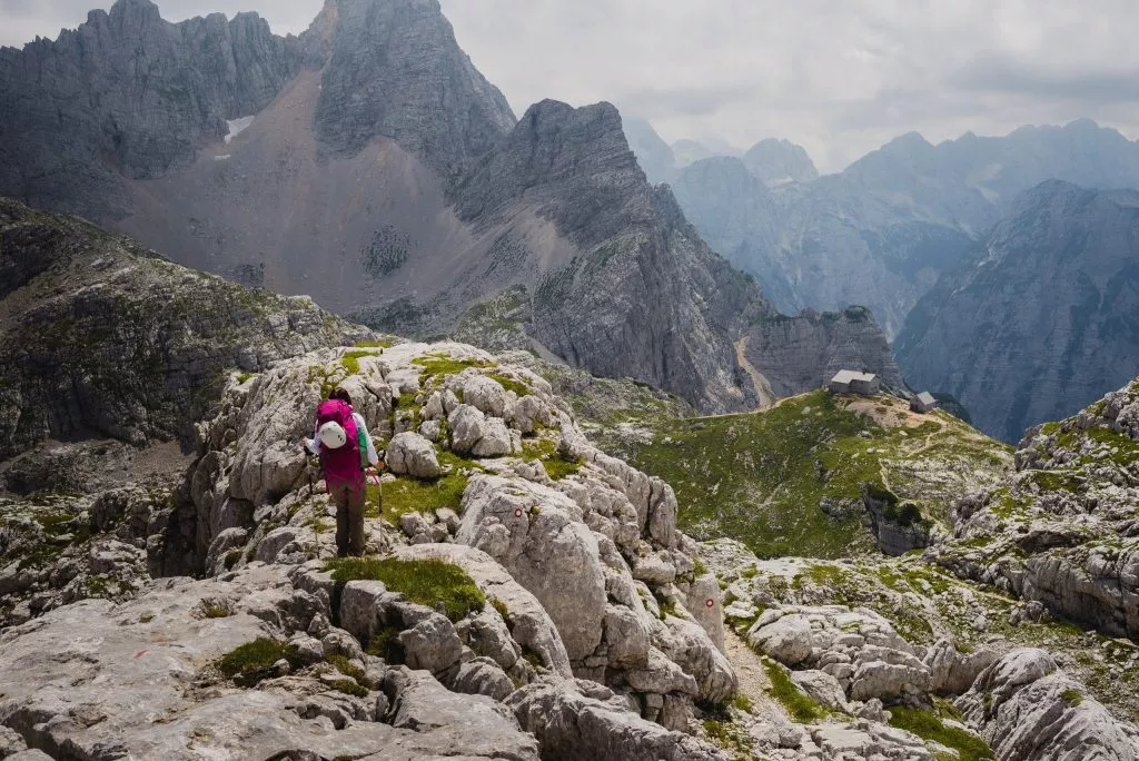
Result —
<path fill-rule="evenodd" d="M 229 558 L 227 570 L 239 571 L 251 559 L 297 562 L 311 556 L 314 542 L 330 542 L 327 533 L 305 529 L 327 501 L 308 496 L 303 455 L 284 442 L 303 435 L 310 425 L 304 410 L 317 403 L 321 384 L 335 382 L 350 391 L 378 439 L 393 436 L 400 411 L 413 404 L 421 420 L 446 417 L 448 435 L 439 445 L 452 458 L 477 458 L 437 474 L 461 480 L 457 509 L 401 516 L 412 547 L 398 548 L 395 556 L 462 567 L 500 604 L 452 625 L 404 607 L 382 584 L 352 582 L 341 592 L 347 606 L 341 622 L 351 633 L 367 641 L 385 627 L 402 629 L 407 664 L 452 689 L 505 697 L 514 684 L 533 681 L 536 665 L 562 680 L 576 676 L 605 685 L 638 702 L 637 721 L 667 722 L 667 729 L 685 733 L 695 701 L 722 703 L 735 695 L 736 676 L 716 647 L 719 588 L 696 573 L 694 546 L 677 530 L 675 497 L 666 484 L 593 449 L 549 384 L 524 368 L 495 366 L 460 344 L 351 353 L 351 371 L 344 350 L 325 350 L 230 386 L 218 417 L 199 426 L 203 453 L 190 468 L 195 485 L 180 505 L 178 531 L 166 534 L 169 555 L 205 557 L 212 571 L 219 570 L 216 558 Z M 451 369 L 435 374 L 433 362 Z M 530 393 L 507 391 L 492 375 Z M 468 417 L 482 431 L 501 428 L 507 448 L 480 450 L 486 435 L 467 433 Z M 519 427 L 534 428 L 527 425 L 534 418 L 551 427 L 542 424 L 523 437 Z M 391 441 L 392 470 L 401 481 L 420 477 L 407 467 L 408 452 L 432 444 L 412 433 Z M 528 459 L 555 449 L 562 453 L 552 457 L 575 464 L 568 477 L 555 480 L 541 457 Z M 252 507 L 237 525 L 224 517 L 233 505 Z M 239 538 L 244 548 L 235 543 Z M 368 545 L 391 541 L 374 532 Z M 689 605 L 700 607 L 699 616 L 688 613 Z M 522 657 L 527 653 L 531 661 Z"/>

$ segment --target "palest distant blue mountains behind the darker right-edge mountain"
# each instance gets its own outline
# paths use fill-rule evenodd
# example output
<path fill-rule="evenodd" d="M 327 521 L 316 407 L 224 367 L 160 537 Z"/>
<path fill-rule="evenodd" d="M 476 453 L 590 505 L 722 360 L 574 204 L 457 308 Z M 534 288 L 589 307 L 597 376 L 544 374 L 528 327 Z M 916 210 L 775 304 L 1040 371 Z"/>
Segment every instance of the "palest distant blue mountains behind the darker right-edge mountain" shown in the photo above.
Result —
<path fill-rule="evenodd" d="M 841 173 L 801 182 L 768 187 L 756 177 L 743 186 L 748 175 L 737 157 L 705 156 L 669 181 L 700 235 L 754 275 L 777 309 L 865 304 L 893 338 L 940 276 L 968 261 L 1014 211 L 1019 194 L 1049 179 L 1139 187 L 1139 149 L 1081 120 L 936 146 L 910 133 Z"/>

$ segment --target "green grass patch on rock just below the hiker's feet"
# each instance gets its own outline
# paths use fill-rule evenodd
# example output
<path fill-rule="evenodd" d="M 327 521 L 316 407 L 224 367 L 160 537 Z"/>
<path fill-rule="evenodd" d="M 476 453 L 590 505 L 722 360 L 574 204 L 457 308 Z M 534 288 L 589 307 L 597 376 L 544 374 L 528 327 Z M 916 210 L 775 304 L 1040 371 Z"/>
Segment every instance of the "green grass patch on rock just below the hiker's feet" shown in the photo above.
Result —
<path fill-rule="evenodd" d="M 467 572 L 442 560 L 350 557 L 333 560 L 326 567 L 338 582 L 382 581 L 412 603 L 431 608 L 442 603 L 451 621 L 460 621 L 486 605 L 486 597 Z"/>

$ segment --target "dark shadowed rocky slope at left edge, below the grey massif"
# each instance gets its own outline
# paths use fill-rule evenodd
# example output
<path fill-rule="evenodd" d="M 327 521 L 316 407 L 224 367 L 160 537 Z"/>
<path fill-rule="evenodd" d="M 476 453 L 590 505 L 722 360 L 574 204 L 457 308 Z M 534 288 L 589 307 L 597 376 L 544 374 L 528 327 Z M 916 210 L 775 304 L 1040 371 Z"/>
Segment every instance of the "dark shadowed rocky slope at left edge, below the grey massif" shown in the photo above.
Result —
<path fill-rule="evenodd" d="M 367 335 L 2 198 L 0 273 L 0 459 L 49 437 L 185 437 L 229 371 Z"/>

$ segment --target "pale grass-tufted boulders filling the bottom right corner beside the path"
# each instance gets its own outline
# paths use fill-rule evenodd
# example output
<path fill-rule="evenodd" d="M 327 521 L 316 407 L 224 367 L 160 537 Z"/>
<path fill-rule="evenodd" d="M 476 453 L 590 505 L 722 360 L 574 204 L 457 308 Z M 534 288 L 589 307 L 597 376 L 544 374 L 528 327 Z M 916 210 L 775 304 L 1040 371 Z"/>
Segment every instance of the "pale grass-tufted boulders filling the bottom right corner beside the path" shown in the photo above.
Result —
<path fill-rule="evenodd" d="M 755 751 L 968 759 L 1136 753 L 1130 692 L 1100 681 L 1105 670 L 1079 660 L 1084 636 L 1031 605 L 920 559 L 756 560 L 730 540 L 705 545 L 702 557 L 727 582 L 729 624 L 763 654 L 771 681 L 784 685 L 781 699 L 806 725 L 798 747 L 780 751 L 793 744 L 786 728 L 745 721 Z M 1136 654 L 1133 645 L 1124 650 Z M 895 731 L 883 733 L 875 720 Z M 927 746 L 908 745 L 900 729 Z"/>

